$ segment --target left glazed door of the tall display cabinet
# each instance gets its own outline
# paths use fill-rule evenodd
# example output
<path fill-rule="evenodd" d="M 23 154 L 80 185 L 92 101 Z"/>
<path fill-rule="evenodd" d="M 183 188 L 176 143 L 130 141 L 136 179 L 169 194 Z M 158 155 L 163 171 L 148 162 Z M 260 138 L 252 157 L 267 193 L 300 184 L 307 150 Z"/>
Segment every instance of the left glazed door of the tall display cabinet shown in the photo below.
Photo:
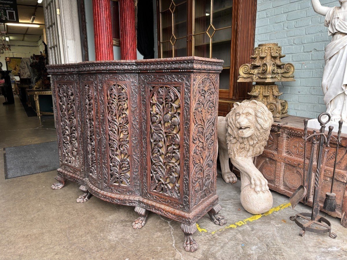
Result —
<path fill-rule="evenodd" d="M 159 0 L 158 5 L 160 57 L 187 56 L 187 1 Z"/>

